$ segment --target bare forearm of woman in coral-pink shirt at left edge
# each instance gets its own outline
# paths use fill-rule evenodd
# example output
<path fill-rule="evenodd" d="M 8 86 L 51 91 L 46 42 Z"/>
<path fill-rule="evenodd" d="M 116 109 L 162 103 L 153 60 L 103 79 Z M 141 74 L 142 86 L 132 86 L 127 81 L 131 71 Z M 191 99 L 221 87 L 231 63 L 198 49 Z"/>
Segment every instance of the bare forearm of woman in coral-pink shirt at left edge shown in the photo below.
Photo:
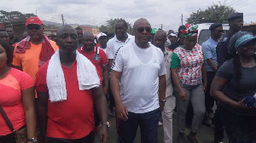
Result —
<path fill-rule="evenodd" d="M 26 117 L 27 138 L 36 137 L 36 112 L 34 87 L 21 90 L 22 103 Z"/>

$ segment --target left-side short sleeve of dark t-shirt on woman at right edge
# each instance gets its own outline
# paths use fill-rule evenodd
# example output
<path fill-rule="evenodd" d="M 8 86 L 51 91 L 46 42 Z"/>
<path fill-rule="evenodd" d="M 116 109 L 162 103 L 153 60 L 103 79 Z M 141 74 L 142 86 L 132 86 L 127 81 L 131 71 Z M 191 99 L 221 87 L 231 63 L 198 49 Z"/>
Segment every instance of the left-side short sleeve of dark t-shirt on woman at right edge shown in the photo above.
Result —
<path fill-rule="evenodd" d="M 227 60 L 224 62 L 222 66 L 218 68 L 218 72 L 216 73 L 216 76 L 223 77 L 225 79 L 230 79 L 232 77 L 233 73 L 233 65 L 232 60 Z"/>

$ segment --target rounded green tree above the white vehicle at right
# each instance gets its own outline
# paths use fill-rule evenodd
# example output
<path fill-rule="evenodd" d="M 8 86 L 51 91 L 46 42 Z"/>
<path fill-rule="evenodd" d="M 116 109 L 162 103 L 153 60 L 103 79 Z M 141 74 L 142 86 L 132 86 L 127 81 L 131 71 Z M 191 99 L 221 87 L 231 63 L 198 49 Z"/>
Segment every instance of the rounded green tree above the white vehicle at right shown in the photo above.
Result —
<path fill-rule="evenodd" d="M 228 16 L 235 12 L 235 9 L 231 7 L 222 4 L 213 4 L 205 10 L 199 9 L 196 12 L 193 12 L 186 21 L 191 24 L 215 22 L 228 23 Z"/>

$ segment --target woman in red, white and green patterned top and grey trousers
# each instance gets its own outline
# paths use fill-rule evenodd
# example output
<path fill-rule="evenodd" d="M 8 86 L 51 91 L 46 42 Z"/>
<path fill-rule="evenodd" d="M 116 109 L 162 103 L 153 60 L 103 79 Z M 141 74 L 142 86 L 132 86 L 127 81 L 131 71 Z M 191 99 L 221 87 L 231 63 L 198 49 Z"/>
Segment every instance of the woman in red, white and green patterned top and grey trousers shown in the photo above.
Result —
<path fill-rule="evenodd" d="M 197 44 L 197 25 L 187 24 L 181 30 L 183 46 L 174 49 L 172 54 L 172 80 L 176 90 L 178 142 L 185 142 L 185 118 L 191 100 L 194 117 L 191 132 L 187 136 L 192 143 L 197 143 L 195 137 L 206 113 L 205 93 L 207 89 L 207 69 L 202 48 Z"/>

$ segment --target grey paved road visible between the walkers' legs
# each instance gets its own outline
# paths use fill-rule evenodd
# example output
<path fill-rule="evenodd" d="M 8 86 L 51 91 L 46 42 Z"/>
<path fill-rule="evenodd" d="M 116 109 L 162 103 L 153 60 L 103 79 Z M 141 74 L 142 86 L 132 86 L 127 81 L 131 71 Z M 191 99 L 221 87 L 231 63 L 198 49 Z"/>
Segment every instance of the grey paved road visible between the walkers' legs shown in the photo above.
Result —
<path fill-rule="evenodd" d="M 115 128 L 115 118 L 113 116 L 109 115 L 109 122 L 111 124 L 111 127 L 109 128 L 109 134 L 110 134 L 110 143 L 117 143 L 117 134 L 116 134 L 116 128 Z M 201 143 L 213 143 L 213 127 L 206 127 L 204 125 L 201 125 L 200 131 L 197 134 L 198 139 Z M 185 130 L 186 134 L 189 134 L 189 129 Z M 158 129 L 158 143 L 164 143 L 164 130 L 162 126 L 159 126 Z M 100 143 L 98 139 L 98 135 L 96 135 L 96 143 Z M 140 133 L 139 129 L 137 130 L 137 137 L 134 141 L 134 143 L 140 143 Z M 173 143 L 177 143 L 177 123 L 176 123 L 176 113 L 173 115 Z M 224 143 L 228 143 L 227 137 L 225 135 Z"/>

